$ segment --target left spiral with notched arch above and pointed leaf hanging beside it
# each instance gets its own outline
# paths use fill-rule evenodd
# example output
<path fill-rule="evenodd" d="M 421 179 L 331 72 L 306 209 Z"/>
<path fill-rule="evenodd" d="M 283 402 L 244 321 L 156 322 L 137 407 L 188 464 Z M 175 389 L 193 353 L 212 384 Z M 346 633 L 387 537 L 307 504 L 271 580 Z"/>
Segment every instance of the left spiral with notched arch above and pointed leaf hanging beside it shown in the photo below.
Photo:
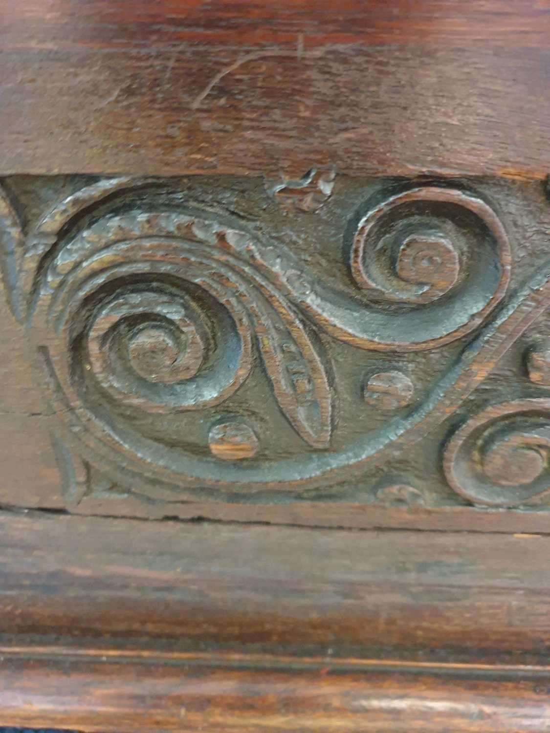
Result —
<path fill-rule="evenodd" d="M 148 412 L 217 405 L 252 371 L 255 341 L 287 419 L 326 446 L 320 357 L 290 303 L 231 254 L 235 243 L 246 236 L 214 222 L 131 211 L 60 248 L 34 320 L 53 329 L 48 354 L 71 405 L 89 402 L 90 378 L 118 405 Z"/>

